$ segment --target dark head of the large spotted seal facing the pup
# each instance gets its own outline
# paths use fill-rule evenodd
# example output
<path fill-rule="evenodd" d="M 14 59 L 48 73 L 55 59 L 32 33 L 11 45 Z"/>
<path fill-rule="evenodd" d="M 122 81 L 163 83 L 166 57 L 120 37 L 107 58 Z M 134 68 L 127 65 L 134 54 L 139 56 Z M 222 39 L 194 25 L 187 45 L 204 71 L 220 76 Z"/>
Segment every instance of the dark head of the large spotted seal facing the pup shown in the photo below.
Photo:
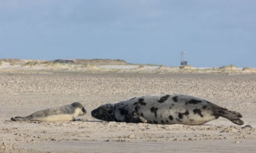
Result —
<path fill-rule="evenodd" d="M 103 121 L 115 121 L 113 104 L 104 104 L 91 111 L 91 116 Z"/>

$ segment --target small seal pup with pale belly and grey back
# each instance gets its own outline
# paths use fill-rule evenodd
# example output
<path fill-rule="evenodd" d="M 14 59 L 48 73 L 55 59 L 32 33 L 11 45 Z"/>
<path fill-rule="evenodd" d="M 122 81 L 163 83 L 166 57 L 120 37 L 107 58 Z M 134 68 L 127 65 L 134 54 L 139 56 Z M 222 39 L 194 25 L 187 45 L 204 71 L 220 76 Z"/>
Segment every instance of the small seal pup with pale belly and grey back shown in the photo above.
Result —
<path fill-rule="evenodd" d="M 83 114 L 86 114 L 83 105 L 75 102 L 58 108 L 39 110 L 27 117 L 12 117 L 11 120 L 40 122 L 75 121 L 75 117 Z"/>

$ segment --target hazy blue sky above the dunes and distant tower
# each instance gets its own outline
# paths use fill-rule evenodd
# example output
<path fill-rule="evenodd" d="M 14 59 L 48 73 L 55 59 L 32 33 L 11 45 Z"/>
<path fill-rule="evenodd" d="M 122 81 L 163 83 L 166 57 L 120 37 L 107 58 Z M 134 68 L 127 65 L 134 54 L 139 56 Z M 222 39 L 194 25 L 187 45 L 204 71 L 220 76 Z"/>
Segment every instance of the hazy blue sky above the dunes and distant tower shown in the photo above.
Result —
<path fill-rule="evenodd" d="M 255 0 L 0 0 L 0 58 L 256 67 Z"/>

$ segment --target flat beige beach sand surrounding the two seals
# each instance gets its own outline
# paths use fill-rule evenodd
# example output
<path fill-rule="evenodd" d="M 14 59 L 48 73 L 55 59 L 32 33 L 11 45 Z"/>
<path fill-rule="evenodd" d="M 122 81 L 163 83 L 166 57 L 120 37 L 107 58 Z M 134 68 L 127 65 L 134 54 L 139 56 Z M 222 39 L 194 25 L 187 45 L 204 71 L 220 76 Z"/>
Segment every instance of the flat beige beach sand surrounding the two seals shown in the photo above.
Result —
<path fill-rule="evenodd" d="M 0 73 L 0 152 L 256 152 L 256 74 Z M 149 94 L 189 94 L 239 111 L 199 126 L 102 122 L 90 111 Z M 12 122 L 11 117 L 81 102 L 75 122 Z"/>

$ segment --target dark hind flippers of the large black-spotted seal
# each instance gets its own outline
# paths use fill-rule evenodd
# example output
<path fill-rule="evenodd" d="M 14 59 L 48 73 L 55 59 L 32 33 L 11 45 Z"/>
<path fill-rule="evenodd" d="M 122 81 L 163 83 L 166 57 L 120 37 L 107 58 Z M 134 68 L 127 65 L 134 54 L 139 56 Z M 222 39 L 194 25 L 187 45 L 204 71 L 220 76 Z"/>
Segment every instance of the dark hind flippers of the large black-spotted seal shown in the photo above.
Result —
<path fill-rule="evenodd" d="M 216 116 L 221 116 L 227 118 L 229 121 L 238 124 L 238 125 L 243 125 L 243 121 L 240 120 L 242 115 L 236 111 L 229 111 L 229 110 L 215 110 L 213 111 L 214 115 Z"/>

